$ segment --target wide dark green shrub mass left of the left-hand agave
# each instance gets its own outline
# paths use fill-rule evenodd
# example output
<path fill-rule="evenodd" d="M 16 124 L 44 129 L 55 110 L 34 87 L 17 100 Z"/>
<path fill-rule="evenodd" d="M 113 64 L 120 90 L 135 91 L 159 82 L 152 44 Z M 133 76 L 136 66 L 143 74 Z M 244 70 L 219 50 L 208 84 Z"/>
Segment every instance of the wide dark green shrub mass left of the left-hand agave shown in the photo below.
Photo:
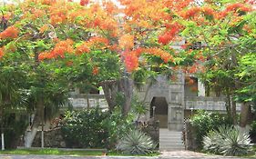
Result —
<path fill-rule="evenodd" d="M 134 127 L 132 119 L 131 114 L 124 117 L 118 106 L 111 114 L 97 107 L 67 112 L 61 130 L 69 147 L 110 149 Z"/>

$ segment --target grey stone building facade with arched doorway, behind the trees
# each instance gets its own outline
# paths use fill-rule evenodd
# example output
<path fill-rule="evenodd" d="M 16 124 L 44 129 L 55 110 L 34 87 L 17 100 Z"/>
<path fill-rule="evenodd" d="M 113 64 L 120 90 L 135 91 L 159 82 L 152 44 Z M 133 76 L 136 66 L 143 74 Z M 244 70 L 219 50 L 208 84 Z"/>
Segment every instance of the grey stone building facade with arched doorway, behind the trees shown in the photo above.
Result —
<path fill-rule="evenodd" d="M 184 119 L 196 110 L 218 111 L 224 113 L 225 97 L 214 95 L 205 96 L 203 84 L 193 78 L 193 84 L 188 84 L 185 75 L 177 74 L 175 81 L 170 81 L 164 75 L 157 76 L 154 84 L 145 84 L 136 89 L 134 94 L 143 101 L 147 113 L 141 116 L 141 121 L 150 118 L 159 120 L 160 128 L 168 128 L 173 131 L 181 131 Z M 108 108 L 104 94 L 79 94 L 72 93 L 70 102 L 74 108 L 88 108 L 99 105 L 103 109 Z M 240 111 L 241 105 L 237 105 Z"/>

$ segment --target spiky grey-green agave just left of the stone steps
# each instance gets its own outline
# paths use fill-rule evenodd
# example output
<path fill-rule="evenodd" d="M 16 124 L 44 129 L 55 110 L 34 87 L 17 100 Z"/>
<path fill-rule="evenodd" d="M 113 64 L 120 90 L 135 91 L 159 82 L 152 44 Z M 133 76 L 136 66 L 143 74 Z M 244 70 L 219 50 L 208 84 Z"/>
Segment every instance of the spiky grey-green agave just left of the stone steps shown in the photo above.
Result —
<path fill-rule="evenodd" d="M 124 154 L 150 154 L 154 148 L 151 138 L 136 129 L 129 131 L 117 144 L 117 150 Z"/>

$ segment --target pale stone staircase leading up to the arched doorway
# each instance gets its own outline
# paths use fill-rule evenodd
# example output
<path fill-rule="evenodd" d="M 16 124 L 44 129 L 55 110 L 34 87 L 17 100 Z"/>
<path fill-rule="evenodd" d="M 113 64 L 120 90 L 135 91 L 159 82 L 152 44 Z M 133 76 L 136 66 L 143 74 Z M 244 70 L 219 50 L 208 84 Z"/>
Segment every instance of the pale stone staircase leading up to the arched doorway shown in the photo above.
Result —
<path fill-rule="evenodd" d="M 182 143 L 182 133 L 160 128 L 159 129 L 159 150 L 160 151 L 185 150 L 185 145 Z"/>

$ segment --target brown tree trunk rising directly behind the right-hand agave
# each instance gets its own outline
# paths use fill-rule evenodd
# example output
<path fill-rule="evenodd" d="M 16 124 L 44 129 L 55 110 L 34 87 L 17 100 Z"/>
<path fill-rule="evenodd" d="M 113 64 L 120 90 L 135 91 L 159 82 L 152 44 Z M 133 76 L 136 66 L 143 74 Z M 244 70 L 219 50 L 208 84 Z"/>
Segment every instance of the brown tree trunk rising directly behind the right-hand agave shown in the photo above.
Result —
<path fill-rule="evenodd" d="M 245 127 L 248 124 L 248 117 L 250 114 L 251 104 L 241 103 L 240 126 Z"/>

